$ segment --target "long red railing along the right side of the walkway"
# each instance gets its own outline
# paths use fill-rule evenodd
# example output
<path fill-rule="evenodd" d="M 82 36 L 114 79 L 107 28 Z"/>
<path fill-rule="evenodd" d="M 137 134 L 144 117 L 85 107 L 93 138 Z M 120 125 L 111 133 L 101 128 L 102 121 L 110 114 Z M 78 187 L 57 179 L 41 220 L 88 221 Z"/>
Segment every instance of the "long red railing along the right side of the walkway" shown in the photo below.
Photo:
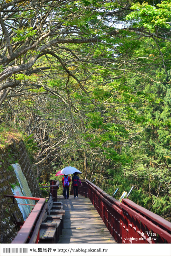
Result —
<path fill-rule="evenodd" d="M 88 197 L 117 243 L 170 243 L 171 223 L 129 199 L 117 201 L 92 182 L 82 180 L 79 194 Z"/>

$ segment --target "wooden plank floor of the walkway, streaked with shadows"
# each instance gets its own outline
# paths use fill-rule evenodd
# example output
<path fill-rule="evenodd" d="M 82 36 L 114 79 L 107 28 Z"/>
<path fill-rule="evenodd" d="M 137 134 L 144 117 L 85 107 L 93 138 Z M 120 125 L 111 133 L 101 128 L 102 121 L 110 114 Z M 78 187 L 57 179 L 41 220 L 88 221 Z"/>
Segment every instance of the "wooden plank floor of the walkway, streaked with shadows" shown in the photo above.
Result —
<path fill-rule="evenodd" d="M 116 243 L 103 220 L 88 198 L 69 195 L 69 199 L 58 196 L 64 204 L 64 229 L 59 244 L 71 243 Z"/>

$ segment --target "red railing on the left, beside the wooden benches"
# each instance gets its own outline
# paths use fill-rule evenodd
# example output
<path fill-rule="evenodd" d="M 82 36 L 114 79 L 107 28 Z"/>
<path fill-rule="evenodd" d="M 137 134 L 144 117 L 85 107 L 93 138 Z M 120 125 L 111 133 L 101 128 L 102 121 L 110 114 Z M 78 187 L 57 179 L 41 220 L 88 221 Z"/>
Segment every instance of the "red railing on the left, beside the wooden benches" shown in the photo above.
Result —
<path fill-rule="evenodd" d="M 5 197 L 13 198 L 13 200 L 14 198 L 38 200 L 26 221 L 21 226 L 18 235 L 11 242 L 11 244 L 38 244 L 39 228 L 47 208 L 47 204 L 45 204 L 46 199 L 18 195 L 5 195 Z"/>

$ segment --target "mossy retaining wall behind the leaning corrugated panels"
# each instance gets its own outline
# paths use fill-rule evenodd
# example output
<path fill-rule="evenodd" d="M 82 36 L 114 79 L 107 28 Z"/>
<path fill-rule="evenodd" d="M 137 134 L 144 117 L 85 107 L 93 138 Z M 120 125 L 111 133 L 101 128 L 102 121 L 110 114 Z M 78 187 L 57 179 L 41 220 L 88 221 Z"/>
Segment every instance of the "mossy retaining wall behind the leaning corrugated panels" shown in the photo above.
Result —
<path fill-rule="evenodd" d="M 8 141 L 8 145 L 0 149 L 0 193 L 1 193 L 1 243 L 11 243 L 12 238 L 17 235 L 17 227 L 15 218 L 12 214 L 16 214 L 20 222 L 23 222 L 22 213 L 17 204 L 10 204 L 11 198 L 5 198 L 5 194 L 13 195 L 12 186 L 18 184 L 16 174 L 11 164 L 19 163 L 23 174 L 26 177 L 30 191 L 34 197 L 42 197 L 36 180 L 36 176 L 32 170 L 29 156 L 26 151 L 25 144 L 21 139 L 12 138 Z M 17 201 L 15 200 L 15 203 Z"/>

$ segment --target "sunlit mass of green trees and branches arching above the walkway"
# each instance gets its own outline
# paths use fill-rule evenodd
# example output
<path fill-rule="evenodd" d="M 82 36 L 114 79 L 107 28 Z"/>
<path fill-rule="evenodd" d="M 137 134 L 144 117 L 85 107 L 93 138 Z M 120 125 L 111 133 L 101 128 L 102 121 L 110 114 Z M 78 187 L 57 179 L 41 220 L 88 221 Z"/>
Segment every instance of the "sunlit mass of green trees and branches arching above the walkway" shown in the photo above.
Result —
<path fill-rule="evenodd" d="M 23 53 L 15 65 L 35 62 L 10 75 L 20 85 L 2 104 L 1 144 L 8 127 L 19 129 L 38 179 L 59 180 L 58 194 L 55 173 L 69 164 L 111 195 L 119 187 L 116 199 L 134 185 L 130 199 L 168 219 L 171 1 L 49 3 L 42 1 L 48 18 L 40 24 L 37 7 L 24 1 L 4 14 L 16 33 L 11 45 Z M 10 66 L 8 51 L 1 71 Z"/>

